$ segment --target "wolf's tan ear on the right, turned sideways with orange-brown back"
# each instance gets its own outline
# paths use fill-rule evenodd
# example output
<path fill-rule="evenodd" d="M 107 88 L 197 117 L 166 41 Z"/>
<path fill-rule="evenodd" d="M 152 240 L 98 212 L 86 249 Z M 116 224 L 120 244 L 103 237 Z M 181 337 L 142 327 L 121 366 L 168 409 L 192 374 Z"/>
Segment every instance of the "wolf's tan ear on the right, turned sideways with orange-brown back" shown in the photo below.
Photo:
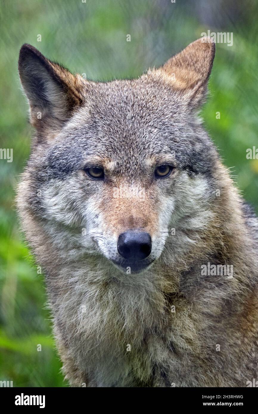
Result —
<path fill-rule="evenodd" d="M 157 72 L 163 75 L 163 79 L 191 108 L 197 108 L 207 92 L 214 56 L 213 39 L 204 37 L 190 43 L 157 69 Z"/>

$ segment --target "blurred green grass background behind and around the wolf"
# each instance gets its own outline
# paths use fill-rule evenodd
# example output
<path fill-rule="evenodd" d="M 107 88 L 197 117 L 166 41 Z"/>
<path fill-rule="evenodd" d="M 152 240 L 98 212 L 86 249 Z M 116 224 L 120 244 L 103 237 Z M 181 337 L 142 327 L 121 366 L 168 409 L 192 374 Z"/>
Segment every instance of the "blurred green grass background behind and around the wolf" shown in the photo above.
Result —
<path fill-rule="evenodd" d="M 103 80 L 137 77 L 208 29 L 233 32 L 233 46 L 217 44 L 203 119 L 239 189 L 258 212 L 258 160 L 246 159 L 247 148 L 258 148 L 257 15 L 256 1 L 1 2 L 0 148 L 13 148 L 13 162 L 0 160 L 0 380 L 12 380 L 13 386 L 67 386 L 51 334 L 43 275 L 37 274 L 15 212 L 15 186 L 31 137 L 17 73 L 19 48 L 31 43 L 72 71 Z"/>

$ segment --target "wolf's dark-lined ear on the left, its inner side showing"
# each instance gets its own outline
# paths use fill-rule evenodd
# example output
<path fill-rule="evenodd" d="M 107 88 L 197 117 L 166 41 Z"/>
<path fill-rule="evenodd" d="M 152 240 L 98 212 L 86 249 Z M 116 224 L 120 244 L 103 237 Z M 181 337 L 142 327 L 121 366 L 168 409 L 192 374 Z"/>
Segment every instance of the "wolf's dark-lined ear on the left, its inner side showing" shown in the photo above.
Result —
<path fill-rule="evenodd" d="M 84 79 L 28 44 L 20 50 L 18 67 L 30 104 L 31 124 L 38 129 L 62 128 L 72 111 L 83 103 Z"/>

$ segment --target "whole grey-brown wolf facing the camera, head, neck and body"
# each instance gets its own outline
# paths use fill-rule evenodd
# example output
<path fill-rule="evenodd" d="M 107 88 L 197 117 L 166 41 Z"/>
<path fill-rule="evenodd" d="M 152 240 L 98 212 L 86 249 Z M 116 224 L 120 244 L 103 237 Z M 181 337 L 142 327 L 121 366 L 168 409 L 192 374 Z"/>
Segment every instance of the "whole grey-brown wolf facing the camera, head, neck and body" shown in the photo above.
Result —
<path fill-rule="evenodd" d="M 258 220 L 198 115 L 214 56 L 202 38 L 95 82 L 20 50 L 35 134 L 17 205 L 72 387 L 258 378 Z"/>

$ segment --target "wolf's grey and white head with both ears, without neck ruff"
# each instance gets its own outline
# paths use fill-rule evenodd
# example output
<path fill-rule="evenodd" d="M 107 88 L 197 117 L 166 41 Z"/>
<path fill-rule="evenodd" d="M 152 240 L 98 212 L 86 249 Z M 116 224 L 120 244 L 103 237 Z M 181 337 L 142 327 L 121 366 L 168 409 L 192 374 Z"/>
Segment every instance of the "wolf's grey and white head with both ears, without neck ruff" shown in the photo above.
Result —
<path fill-rule="evenodd" d="M 197 114 L 214 55 L 199 39 L 139 79 L 93 82 L 22 46 L 36 134 L 20 199 L 68 260 L 144 272 L 207 227 L 218 159 Z"/>

